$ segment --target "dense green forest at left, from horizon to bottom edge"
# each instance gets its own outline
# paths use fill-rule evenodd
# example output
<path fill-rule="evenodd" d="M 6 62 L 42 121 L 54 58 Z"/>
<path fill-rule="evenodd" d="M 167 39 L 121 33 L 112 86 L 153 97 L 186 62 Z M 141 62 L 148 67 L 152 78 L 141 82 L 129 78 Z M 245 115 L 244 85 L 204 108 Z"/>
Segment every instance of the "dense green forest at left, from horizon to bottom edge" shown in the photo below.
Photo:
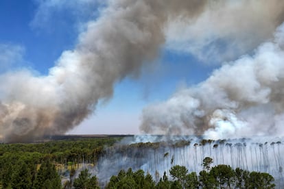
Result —
<path fill-rule="evenodd" d="M 0 188 L 60 188 L 63 169 L 71 172 L 82 162 L 96 164 L 104 147 L 119 140 L 79 138 L 0 144 Z"/>

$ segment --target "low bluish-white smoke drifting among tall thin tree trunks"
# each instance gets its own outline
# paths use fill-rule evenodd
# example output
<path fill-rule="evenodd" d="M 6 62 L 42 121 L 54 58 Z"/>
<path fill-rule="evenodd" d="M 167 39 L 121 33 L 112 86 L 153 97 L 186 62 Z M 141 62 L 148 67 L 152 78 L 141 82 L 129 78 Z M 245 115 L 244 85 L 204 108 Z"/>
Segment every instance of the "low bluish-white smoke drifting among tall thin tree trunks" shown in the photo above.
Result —
<path fill-rule="evenodd" d="M 175 165 L 185 166 L 189 172 L 199 173 L 206 169 L 202 164 L 204 158 L 210 157 L 213 159 L 210 167 L 226 164 L 232 168 L 270 173 L 275 178 L 276 186 L 283 186 L 283 138 L 204 140 L 176 136 L 170 140 L 167 138 L 167 142 L 164 139 L 164 136 L 154 136 L 147 138 L 147 141 L 152 142 L 106 148 L 91 172 L 104 184 L 121 169 L 142 169 L 158 182 L 165 172 L 169 175 L 169 168 Z"/>

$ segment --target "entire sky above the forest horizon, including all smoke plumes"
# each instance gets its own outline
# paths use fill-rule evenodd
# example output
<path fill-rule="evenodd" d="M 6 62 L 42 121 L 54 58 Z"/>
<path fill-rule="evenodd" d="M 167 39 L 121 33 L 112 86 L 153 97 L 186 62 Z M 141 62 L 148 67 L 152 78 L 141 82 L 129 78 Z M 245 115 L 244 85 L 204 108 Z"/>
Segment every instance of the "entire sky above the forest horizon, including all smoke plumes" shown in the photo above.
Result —
<path fill-rule="evenodd" d="M 282 135 L 284 1 L 0 1 L 0 139 Z"/>

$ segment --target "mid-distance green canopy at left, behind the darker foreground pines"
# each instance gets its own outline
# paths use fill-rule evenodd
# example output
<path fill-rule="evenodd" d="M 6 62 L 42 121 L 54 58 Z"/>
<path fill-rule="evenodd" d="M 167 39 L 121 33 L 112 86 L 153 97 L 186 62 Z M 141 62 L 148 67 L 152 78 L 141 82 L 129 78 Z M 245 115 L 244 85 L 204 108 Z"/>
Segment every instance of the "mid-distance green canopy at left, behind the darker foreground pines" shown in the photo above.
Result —
<path fill-rule="evenodd" d="M 48 157 L 60 164 L 67 162 L 96 162 L 99 155 L 104 153 L 103 147 L 110 147 L 120 138 L 81 138 L 75 140 L 55 140 L 32 144 L 0 144 L 0 159 L 5 153 L 29 156 L 34 163 Z M 76 161 L 75 161 L 76 160 Z"/>

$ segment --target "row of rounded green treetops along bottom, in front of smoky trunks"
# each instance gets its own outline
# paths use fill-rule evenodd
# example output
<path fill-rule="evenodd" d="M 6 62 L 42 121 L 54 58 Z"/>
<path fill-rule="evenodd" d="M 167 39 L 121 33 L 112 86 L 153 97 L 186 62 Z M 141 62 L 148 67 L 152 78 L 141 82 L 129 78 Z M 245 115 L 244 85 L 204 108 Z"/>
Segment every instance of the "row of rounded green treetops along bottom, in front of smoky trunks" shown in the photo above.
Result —
<path fill-rule="evenodd" d="M 121 170 L 117 176 L 110 178 L 106 188 L 157 188 L 157 189 L 211 189 L 211 188 L 274 188 L 273 177 L 268 173 L 256 173 L 243 171 L 240 168 L 233 170 L 227 165 L 217 165 L 211 171 L 200 171 L 199 176 L 195 172 L 188 173 L 185 166 L 173 166 L 169 170 L 172 177 L 168 179 L 167 173 L 163 174 L 158 183 L 154 183 L 151 175 L 138 170 L 133 172 Z"/>

